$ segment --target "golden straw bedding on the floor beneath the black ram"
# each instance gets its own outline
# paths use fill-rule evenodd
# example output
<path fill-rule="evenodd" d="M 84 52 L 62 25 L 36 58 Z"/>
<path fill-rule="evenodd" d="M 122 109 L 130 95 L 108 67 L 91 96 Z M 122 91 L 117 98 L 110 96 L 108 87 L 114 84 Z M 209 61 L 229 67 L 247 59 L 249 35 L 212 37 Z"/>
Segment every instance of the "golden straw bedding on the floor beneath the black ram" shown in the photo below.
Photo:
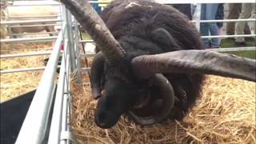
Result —
<path fill-rule="evenodd" d="M 83 82 L 88 82 L 85 74 Z M 255 83 L 206 76 L 202 94 L 181 122 L 138 126 L 123 116 L 102 130 L 94 124 L 97 104 L 90 86 L 72 82 L 72 127 L 79 143 L 256 143 Z"/>

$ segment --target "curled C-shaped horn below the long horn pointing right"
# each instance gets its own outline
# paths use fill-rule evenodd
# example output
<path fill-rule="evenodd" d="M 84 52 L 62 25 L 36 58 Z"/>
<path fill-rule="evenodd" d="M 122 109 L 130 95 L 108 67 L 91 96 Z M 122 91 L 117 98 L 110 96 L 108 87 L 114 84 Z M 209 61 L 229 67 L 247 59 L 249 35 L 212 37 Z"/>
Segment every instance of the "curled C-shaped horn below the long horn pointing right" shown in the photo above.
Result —
<path fill-rule="evenodd" d="M 159 94 L 162 95 L 164 103 L 162 106 L 162 110 L 159 111 L 158 115 L 154 115 L 150 117 L 141 117 L 141 116 L 138 116 L 137 114 L 134 114 L 133 111 L 129 112 L 134 122 L 144 126 L 162 122 L 170 114 L 170 111 L 174 106 L 174 98 L 175 98 L 174 89 L 173 89 L 173 86 L 171 86 L 168 79 L 164 77 L 162 74 L 155 74 L 155 76 L 150 80 L 152 80 L 151 82 L 153 86 L 158 87 Z"/>

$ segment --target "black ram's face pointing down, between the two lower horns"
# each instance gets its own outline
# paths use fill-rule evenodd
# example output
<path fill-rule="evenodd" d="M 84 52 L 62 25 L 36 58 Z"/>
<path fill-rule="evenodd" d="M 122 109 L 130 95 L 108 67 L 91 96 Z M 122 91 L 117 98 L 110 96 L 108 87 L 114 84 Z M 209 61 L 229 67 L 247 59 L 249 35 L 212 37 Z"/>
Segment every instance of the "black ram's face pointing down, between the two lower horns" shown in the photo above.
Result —
<path fill-rule="evenodd" d="M 122 114 L 134 106 L 142 90 L 118 78 L 108 78 L 98 99 L 95 123 L 101 128 L 114 126 Z"/>

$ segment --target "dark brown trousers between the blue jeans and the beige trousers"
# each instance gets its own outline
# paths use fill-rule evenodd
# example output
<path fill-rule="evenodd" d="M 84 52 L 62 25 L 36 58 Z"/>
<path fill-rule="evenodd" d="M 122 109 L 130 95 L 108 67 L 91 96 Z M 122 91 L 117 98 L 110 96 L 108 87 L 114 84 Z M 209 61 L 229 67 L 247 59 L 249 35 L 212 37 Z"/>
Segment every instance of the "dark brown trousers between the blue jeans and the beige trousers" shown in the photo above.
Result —
<path fill-rule="evenodd" d="M 230 3 L 229 4 L 230 14 L 227 19 L 238 19 L 239 14 L 242 10 L 242 3 Z M 235 22 L 227 22 L 226 23 L 226 34 L 234 35 Z M 244 29 L 244 34 L 250 34 L 250 27 L 246 24 Z"/>

